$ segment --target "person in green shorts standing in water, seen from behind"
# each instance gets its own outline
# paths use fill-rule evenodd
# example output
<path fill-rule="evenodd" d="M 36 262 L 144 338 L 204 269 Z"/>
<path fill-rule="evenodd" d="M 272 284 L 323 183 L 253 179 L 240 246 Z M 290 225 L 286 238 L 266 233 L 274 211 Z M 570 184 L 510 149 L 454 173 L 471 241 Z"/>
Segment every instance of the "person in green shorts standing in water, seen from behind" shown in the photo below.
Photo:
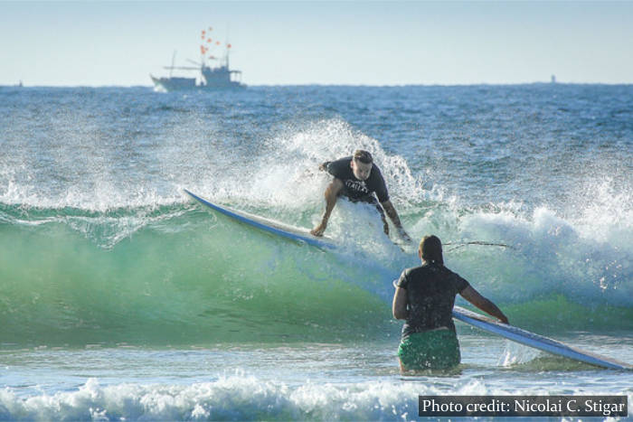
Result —
<path fill-rule="evenodd" d="M 437 236 L 420 241 L 420 267 L 407 268 L 395 283 L 392 312 L 406 320 L 398 348 L 400 369 L 448 369 L 461 360 L 452 311 L 457 294 L 504 324 L 507 317 L 468 281 L 444 267 Z"/>

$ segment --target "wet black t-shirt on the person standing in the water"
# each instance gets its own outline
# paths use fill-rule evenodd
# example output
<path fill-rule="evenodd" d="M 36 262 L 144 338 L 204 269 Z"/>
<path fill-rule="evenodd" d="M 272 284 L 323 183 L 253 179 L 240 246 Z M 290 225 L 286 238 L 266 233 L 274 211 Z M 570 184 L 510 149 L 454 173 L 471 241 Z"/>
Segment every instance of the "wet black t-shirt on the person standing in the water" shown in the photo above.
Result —
<path fill-rule="evenodd" d="M 402 271 L 396 286 L 407 290 L 409 316 L 402 327 L 402 339 L 453 324 L 455 296 L 464 291 L 468 281 L 440 264 L 425 263 Z"/>

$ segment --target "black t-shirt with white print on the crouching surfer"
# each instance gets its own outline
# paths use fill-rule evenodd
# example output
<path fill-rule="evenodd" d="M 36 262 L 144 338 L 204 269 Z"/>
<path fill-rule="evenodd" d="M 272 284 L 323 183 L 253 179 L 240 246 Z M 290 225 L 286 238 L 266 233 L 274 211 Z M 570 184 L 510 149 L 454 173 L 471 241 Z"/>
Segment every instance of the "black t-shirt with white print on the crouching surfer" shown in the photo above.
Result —
<path fill-rule="evenodd" d="M 340 160 L 324 163 L 327 173 L 340 179 L 345 188 L 343 194 L 351 201 L 368 201 L 368 196 L 372 192 L 376 192 L 378 201 L 385 202 L 389 200 L 389 192 L 387 192 L 387 184 L 384 183 L 383 174 L 376 164 L 372 165 L 372 171 L 369 173 L 367 180 L 361 181 L 356 179 L 352 167 L 352 157 L 341 158 Z M 373 200 L 375 201 L 375 200 Z"/>

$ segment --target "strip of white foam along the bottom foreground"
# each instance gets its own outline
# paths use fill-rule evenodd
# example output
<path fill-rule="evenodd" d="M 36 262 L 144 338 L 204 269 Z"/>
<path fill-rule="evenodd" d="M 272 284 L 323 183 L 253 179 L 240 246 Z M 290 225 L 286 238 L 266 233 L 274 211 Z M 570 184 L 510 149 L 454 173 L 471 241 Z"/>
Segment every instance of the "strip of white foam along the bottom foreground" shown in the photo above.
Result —
<path fill-rule="evenodd" d="M 413 379 L 414 381 L 415 379 Z M 564 389 L 569 394 L 569 389 Z M 458 380 L 454 395 L 506 395 L 515 391 L 477 380 Z M 554 394 L 535 386 L 524 395 Z M 572 393 L 581 393 L 582 389 Z M 597 392 L 592 392 L 598 394 Z M 380 382 L 290 386 L 244 374 L 190 385 L 99 384 L 21 397 L 0 391 L 0 417 L 23 420 L 418 420 L 418 395 L 447 394 L 443 383 Z M 628 399 L 633 397 L 628 394 Z"/>

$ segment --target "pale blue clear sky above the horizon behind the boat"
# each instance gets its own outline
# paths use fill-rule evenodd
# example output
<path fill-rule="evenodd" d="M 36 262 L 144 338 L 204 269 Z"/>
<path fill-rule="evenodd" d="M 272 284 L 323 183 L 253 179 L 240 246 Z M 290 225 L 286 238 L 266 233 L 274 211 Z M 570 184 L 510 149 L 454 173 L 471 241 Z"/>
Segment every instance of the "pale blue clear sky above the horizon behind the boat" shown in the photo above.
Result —
<path fill-rule="evenodd" d="M 0 85 L 151 85 L 228 36 L 249 85 L 633 83 L 633 2 L 3 2 Z"/>

